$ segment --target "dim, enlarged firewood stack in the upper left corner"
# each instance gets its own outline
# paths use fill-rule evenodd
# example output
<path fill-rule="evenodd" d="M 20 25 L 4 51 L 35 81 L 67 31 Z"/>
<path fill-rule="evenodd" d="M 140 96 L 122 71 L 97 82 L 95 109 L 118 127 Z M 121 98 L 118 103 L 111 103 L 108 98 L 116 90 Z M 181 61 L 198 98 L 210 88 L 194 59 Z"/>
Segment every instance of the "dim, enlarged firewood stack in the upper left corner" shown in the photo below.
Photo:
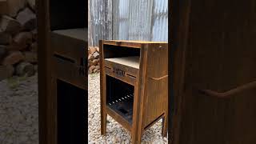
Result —
<path fill-rule="evenodd" d="M 0 11 L 0 80 L 13 75 L 32 76 L 38 62 L 34 1 L 5 2 L 6 10 Z"/>

